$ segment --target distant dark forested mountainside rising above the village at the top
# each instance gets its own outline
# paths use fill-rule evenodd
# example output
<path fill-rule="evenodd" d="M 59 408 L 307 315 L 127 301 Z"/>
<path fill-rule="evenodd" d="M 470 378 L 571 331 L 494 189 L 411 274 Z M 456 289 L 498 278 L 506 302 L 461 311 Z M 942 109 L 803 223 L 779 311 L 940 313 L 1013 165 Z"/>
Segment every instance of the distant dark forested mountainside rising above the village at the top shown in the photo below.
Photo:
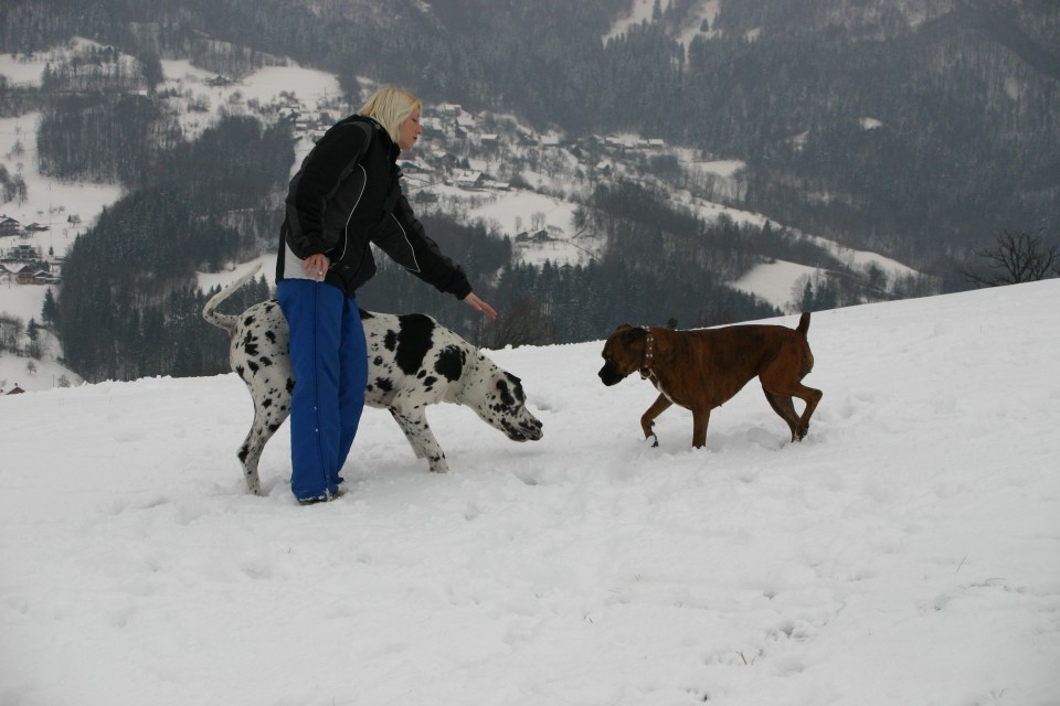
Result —
<path fill-rule="evenodd" d="M 1048 0 L 26 0 L 3 51 L 84 34 L 141 57 L 224 40 L 571 135 L 633 130 L 749 160 L 745 203 L 919 267 L 1060 215 L 1060 4 Z M 235 66 L 216 65 L 232 72 Z M 150 72 L 148 72 L 150 73 Z"/>

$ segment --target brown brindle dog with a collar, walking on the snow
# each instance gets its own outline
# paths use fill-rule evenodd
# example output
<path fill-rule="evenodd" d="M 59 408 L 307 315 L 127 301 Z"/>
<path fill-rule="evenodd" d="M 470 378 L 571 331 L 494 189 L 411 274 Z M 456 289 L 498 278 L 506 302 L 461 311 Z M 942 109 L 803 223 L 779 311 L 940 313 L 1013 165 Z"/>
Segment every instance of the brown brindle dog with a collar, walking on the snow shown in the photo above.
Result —
<path fill-rule="evenodd" d="M 655 418 L 670 405 L 692 411 L 692 446 L 707 442 L 710 410 L 720 407 L 757 376 L 773 411 L 787 422 L 792 441 L 809 430 L 823 393 L 803 385 L 814 370 L 814 354 L 806 342 L 809 312 L 803 312 L 797 329 L 746 324 L 724 329 L 674 331 L 634 328 L 624 323 L 607 338 L 602 353 L 600 379 L 614 385 L 635 371 L 651 381 L 659 398 L 640 417 L 644 438 L 658 437 L 651 430 Z M 806 403 L 802 417 L 795 414 L 792 397 Z"/>

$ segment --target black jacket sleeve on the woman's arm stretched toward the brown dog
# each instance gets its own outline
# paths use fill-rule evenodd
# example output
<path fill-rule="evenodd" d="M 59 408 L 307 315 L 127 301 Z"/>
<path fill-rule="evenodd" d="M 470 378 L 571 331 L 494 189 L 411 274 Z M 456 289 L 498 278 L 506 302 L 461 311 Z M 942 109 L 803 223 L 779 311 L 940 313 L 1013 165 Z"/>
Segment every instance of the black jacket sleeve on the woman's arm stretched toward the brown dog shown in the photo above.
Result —
<path fill-rule="evenodd" d="M 471 293 L 464 269 L 442 254 L 437 243 L 427 237 L 423 224 L 415 217 L 409 200 L 398 199 L 391 223 L 372 238 L 386 255 L 423 281 L 439 291 L 463 300 Z"/>

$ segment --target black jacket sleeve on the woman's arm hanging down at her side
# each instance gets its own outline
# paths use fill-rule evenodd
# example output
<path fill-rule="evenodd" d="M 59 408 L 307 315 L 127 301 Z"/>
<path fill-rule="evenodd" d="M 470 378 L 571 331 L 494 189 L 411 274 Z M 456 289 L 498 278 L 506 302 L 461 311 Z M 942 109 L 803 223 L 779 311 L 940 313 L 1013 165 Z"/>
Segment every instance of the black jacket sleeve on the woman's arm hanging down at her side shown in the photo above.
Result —
<path fill-rule="evenodd" d="M 324 227 L 328 200 L 368 150 L 370 129 L 359 122 L 337 125 L 309 152 L 287 191 L 287 244 L 305 259 L 327 253 L 338 243 L 329 242 Z"/>

